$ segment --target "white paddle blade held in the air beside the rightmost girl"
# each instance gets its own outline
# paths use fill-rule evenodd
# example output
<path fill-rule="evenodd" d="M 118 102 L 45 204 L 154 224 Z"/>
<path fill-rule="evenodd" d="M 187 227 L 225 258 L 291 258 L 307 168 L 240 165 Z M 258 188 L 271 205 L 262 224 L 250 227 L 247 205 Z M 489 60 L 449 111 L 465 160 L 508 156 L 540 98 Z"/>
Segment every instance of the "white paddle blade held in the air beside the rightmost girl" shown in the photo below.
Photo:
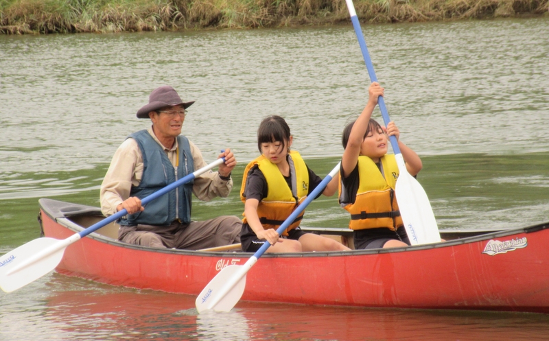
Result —
<path fill-rule="evenodd" d="M 436 224 L 429 198 L 417 180 L 408 172 L 401 172 L 395 193 L 410 244 L 441 242 L 439 226 Z"/>

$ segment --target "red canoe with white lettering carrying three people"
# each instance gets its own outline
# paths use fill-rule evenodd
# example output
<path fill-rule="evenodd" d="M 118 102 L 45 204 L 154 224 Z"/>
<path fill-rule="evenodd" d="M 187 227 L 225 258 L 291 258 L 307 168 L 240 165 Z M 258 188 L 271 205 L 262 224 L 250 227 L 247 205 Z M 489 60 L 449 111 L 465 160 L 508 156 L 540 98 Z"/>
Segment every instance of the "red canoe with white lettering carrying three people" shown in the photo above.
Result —
<path fill-rule="evenodd" d="M 50 199 L 40 199 L 40 216 L 43 235 L 57 239 L 104 219 L 95 207 Z M 56 270 L 196 296 L 222 268 L 253 255 L 134 246 L 118 242 L 116 231 L 109 224 L 71 244 Z M 248 272 L 242 300 L 549 313 L 549 223 L 441 236 L 448 241 L 390 250 L 266 254 Z"/>

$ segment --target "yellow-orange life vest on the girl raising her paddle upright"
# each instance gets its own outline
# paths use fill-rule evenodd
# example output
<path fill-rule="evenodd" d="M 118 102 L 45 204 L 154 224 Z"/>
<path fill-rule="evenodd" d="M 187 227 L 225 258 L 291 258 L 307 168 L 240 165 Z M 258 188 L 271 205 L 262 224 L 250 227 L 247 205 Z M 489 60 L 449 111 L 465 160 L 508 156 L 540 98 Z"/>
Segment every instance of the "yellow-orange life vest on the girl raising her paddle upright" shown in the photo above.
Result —
<path fill-rule="evenodd" d="M 349 228 L 352 230 L 386 227 L 395 231 L 403 225 L 395 198 L 395 185 L 399 177 L 395 155 L 386 154 L 380 161 L 382 172 L 368 156 L 358 157 L 359 185 L 356 199 L 353 204 L 343 207 L 351 213 Z"/>

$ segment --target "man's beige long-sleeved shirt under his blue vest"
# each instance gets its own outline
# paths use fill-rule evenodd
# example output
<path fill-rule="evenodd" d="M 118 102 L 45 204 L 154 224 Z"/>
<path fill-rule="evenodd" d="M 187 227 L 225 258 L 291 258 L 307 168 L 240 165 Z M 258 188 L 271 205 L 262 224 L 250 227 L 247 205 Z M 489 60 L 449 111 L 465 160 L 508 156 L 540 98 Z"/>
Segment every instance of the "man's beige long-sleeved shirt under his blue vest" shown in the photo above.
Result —
<path fill-rule="evenodd" d="M 156 143 L 162 146 L 167 157 L 174 167 L 177 162 L 177 140 L 172 148 L 165 148 L 159 139 L 156 139 L 152 127 L 148 129 Z M 194 170 L 205 167 L 207 163 L 202 158 L 200 150 L 189 141 L 193 156 Z M 181 161 L 180 161 L 181 162 Z M 115 152 L 113 161 L 110 162 L 107 174 L 103 179 L 100 192 L 101 211 L 104 215 L 116 213 L 116 207 L 130 197 L 133 186 L 141 183 L 143 176 L 143 156 L 135 139 L 126 139 Z M 233 180 L 225 181 L 219 177 L 218 172 L 206 172 L 194 179 L 193 193 L 196 198 L 209 201 L 217 196 L 226 198 L 233 188 Z"/>

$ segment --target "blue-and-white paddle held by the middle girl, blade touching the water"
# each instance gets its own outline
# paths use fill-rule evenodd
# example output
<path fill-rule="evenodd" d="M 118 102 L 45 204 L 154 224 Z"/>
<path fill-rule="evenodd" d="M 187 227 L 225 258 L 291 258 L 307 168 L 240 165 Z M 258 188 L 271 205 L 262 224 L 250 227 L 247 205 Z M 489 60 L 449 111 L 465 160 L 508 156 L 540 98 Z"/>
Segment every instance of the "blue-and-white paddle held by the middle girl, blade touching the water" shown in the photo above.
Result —
<path fill-rule="evenodd" d="M 320 184 L 303 200 L 295 211 L 290 214 L 286 220 L 277 229 L 277 233 L 281 235 L 296 217 L 303 212 L 305 207 L 314 200 L 328 185 L 330 180 L 339 172 L 340 163 L 331 170 L 331 172 L 322 180 Z M 204 287 L 202 292 L 196 298 L 196 310 L 198 314 L 205 311 L 230 311 L 240 301 L 244 288 L 246 287 L 246 273 L 257 262 L 257 259 L 265 253 L 270 247 L 270 243 L 266 242 L 257 250 L 246 263 L 242 266 L 227 266 L 223 268 L 213 279 Z"/>

